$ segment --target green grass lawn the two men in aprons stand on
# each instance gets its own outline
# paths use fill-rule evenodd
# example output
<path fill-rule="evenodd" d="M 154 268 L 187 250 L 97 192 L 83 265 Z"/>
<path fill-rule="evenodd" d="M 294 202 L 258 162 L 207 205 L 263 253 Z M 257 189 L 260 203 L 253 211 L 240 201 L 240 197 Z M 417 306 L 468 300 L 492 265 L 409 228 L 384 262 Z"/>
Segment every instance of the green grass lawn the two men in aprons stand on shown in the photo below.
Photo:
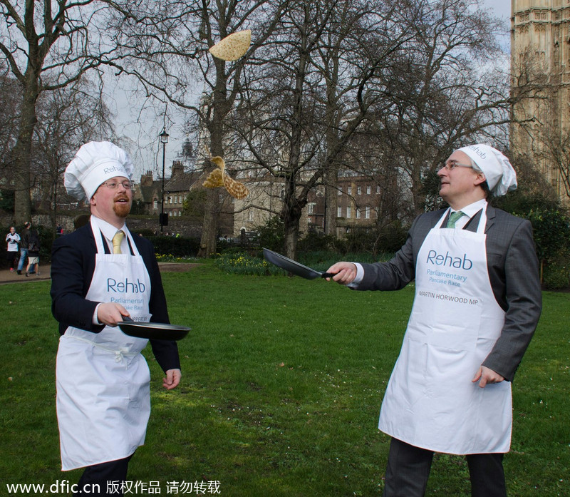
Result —
<path fill-rule="evenodd" d="M 133 495 L 152 481 L 162 495 L 212 495 L 182 486 L 202 481 L 219 481 L 217 495 L 227 497 L 381 495 L 388 437 L 378 412 L 413 288 L 351 292 L 323 280 L 225 275 L 211 264 L 163 279 L 171 321 L 192 332 L 179 342 L 174 391 L 162 390 L 147 354 L 152 414 L 130 464 Z M 48 488 L 81 474 L 60 471 L 48 292 L 49 282 L 0 286 L 0 496 L 10 495 L 6 483 Z M 569 322 L 570 294 L 545 293 L 513 386 L 509 496 L 570 495 Z M 470 495 L 463 458 L 435 458 L 427 495 Z"/>

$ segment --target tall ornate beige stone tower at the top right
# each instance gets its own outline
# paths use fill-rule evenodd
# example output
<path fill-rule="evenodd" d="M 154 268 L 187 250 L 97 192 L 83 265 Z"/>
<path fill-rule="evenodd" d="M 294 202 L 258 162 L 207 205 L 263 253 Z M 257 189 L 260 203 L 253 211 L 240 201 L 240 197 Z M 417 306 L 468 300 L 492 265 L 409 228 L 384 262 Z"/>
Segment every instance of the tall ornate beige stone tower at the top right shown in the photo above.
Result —
<path fill-rule="evenodd" d="M 541 168 L 569 204 L 570 0 L 512 0 L 512 92 L 532 88 L 513 108 L 511 149 Z"/>

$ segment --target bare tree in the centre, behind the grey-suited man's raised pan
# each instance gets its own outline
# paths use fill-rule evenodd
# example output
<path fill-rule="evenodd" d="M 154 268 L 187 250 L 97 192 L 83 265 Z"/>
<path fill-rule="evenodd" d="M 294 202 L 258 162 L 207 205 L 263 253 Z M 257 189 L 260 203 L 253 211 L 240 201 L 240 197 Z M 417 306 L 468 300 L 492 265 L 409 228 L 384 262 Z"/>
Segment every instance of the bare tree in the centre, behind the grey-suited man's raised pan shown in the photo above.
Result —
<path fill-rule="evenodd" d="M 378 73 L 406 36 L 390 2 L 291 1 L 274 39 L 257 52 L 259 63 L 249 66 L 234 129 L 254 163 L 284 184 L 279 216 L 289 257 L 318 185 L 327 187 L 334 229 L 343 154 L 369 110 L 380 106 Z"/>

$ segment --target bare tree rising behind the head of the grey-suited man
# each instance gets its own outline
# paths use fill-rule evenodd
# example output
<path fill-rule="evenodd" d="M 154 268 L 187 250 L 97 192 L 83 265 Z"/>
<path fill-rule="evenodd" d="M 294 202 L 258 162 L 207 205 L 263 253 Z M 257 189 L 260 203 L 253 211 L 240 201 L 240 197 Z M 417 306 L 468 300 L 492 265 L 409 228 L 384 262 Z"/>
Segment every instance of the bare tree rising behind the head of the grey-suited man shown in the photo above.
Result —
<path fill-rule="evenodd" d="M 425 209 L 423 179 L 453 148 L 507 123 L 512 99 L 494 33 L 499 21 L 477 0 L 410 2 L 413 34 L 385 80 L 390 112 L 377 121 L 385 157 L 408 178 L 415 213 Z"/>

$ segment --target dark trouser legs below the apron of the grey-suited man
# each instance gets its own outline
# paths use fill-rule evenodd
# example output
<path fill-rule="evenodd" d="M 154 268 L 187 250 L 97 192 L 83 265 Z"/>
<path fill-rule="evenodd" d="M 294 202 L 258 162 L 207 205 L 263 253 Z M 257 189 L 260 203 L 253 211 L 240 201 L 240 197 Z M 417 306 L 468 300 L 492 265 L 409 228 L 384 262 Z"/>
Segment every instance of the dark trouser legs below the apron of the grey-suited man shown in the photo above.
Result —
<path fill-rule="evenodd" d="M 504 454 L 468 454 L 472 497 L 507 497 L 504 482 Z M 423 497 L 433 460 L 433 452 L 390 442 L 383 497 Z"/>

